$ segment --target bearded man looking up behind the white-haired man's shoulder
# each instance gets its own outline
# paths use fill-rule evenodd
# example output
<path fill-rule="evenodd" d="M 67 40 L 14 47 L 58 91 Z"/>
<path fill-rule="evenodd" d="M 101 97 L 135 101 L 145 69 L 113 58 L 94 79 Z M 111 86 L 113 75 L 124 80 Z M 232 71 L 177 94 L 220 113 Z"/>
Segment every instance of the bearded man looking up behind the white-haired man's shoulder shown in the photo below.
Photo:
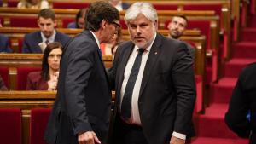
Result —
<path fill-rule="evenodd" d="M 168 24 L 168 29 L 170 31 L 169 37 L 173 39 L 179 39 L 183 36 L 183 32 L 188 26 L 188 19 L 185 15 L 177 14 L 172 17 L 172 21 Z M 185 43 L 185 42 L 184 42 Z M 186 43 L 191 56 L 195 59 L 195 48 L 193 48 L 189 43 Z"/>

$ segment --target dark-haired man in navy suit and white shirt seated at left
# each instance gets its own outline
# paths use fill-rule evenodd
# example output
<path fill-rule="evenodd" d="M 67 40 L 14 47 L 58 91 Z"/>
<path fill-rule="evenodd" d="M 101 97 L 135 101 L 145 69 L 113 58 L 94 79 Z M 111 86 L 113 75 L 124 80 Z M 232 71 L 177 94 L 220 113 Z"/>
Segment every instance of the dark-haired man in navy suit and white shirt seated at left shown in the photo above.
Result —
<path fill-rule="evenodd" d="M 46 45 L 60 42 L 63 46 L 70 39 L 66 34 L 55 31 L 57 21 L 52 9 L 42 9 L 38 14 L 40 31 L 26 34 L 23 40 L 22 53 L 43 53 Z"/>

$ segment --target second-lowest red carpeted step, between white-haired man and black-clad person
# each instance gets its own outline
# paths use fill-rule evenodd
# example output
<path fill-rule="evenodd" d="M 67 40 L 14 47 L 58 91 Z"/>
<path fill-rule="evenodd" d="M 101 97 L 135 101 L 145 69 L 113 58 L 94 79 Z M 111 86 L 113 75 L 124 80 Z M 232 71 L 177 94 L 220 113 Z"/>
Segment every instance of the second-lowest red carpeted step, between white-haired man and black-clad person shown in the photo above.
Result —
<path fill-rule="evenodd" d="M 200 115 L 198 118 L 197 136 L 237 138 L 236 134 L 224 123 L 224 113 L 227 109 L 227 104 L 212 104 L 210 107 L 207 107 L 205 114 Z"/>

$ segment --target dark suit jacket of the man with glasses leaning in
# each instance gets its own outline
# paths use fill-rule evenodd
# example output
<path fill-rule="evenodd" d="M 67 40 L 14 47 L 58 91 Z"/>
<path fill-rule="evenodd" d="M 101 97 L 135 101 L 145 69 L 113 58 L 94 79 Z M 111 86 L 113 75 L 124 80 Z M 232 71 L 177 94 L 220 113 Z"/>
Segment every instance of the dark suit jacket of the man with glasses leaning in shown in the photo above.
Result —
<path fill-rule="evenodd" d="M 75 36 L 61 55 L 57 95 L 44 138 L 50 144 L 77 144 L 93 130 L 106 144 L 111 90 L 102 55 L 90 31 Z"/>

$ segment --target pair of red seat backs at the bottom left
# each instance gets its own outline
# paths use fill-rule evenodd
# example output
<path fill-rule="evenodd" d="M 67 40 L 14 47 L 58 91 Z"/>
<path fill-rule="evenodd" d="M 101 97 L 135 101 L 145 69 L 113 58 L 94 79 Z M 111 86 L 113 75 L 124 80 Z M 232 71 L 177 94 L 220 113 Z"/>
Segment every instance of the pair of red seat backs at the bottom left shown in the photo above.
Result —
<path fill-rule="evenodd" d="M 30 118 L 30 144 L 46 144 L 44 130 L 50 114 L 50 108 L 34 108 Z M 0 109 L 1 143 L 21 144 L 22 123 L 20 108 Z"/>

